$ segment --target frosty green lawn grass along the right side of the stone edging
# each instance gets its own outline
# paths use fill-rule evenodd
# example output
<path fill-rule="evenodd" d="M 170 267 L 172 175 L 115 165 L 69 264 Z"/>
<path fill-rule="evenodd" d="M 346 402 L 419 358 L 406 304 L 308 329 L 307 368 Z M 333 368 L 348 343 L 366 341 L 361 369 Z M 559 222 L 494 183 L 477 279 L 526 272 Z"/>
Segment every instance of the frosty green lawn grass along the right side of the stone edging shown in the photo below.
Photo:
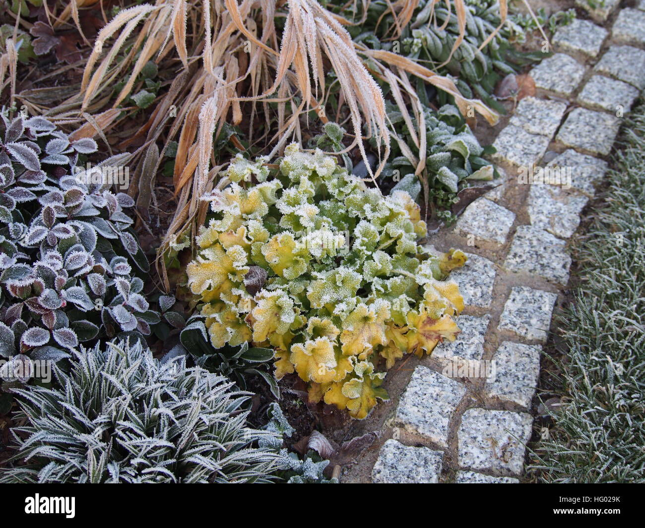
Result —
<path fill-rule="evenodd" d="M 623 130 L 561 318 L 562 405 L 532 446 L 541 482 L 645 482 L 645 104 Z"/>

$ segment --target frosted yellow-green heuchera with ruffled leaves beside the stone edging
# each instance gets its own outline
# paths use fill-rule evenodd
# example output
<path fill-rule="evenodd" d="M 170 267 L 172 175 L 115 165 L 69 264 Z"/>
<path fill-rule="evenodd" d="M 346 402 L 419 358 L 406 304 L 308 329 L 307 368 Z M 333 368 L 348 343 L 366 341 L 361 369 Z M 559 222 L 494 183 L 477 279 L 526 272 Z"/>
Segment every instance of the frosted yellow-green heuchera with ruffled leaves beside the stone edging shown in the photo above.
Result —
<path fill-rule="evenodd" d="M 408 193 L 383 197 L 321 151 L 292 144 L 275 174 L 264 161 L 236 159 L 208 197 L 188 285 L 215 348 L 271 346 L 277 378 L 295 372 L 310 400 L 364 418 L 397 358 L 455 339 L 464 304 L 444 279 L 466 256 L 425 253 Z"/>

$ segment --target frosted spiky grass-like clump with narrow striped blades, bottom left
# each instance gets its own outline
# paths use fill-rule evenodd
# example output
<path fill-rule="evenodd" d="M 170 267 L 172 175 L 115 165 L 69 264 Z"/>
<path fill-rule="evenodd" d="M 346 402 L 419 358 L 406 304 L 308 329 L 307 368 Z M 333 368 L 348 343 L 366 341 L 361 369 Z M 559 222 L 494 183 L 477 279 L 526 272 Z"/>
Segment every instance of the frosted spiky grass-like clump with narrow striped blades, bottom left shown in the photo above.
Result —
<path fill-rule="evenodd" d="M 0 482 L 272 482 L 284 469 L 277 432 L 247 427 L 223 376 L 159 362 L 140 341 L 74 353 L 58 388 L 17 389 L 26 425 Z M 20 418 L 20 417 L 19 417 Z"/>

